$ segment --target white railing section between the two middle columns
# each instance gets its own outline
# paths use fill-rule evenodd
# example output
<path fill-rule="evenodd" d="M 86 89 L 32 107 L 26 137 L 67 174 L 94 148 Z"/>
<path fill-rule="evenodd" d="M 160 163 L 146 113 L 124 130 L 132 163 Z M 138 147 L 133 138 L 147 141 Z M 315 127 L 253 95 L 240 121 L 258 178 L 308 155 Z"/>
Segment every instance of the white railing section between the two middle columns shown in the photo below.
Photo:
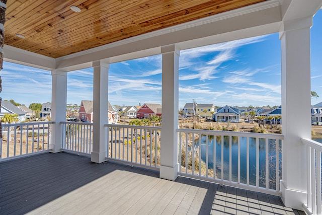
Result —
<path fill-rule="evenodd" d="M 107 160 L 158 169 L 161 127 L 106 124 Z"/>

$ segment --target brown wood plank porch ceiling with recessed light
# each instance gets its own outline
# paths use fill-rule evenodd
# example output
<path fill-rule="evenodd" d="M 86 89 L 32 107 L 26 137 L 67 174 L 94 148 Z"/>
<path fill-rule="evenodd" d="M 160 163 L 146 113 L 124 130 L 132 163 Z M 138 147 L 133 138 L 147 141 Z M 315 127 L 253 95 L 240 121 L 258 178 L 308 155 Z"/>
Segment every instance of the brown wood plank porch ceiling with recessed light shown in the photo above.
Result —
<path fill-rule="evenodd" d="M 8 0 L 5 44 L 57 58 L 263 1 Z"/>

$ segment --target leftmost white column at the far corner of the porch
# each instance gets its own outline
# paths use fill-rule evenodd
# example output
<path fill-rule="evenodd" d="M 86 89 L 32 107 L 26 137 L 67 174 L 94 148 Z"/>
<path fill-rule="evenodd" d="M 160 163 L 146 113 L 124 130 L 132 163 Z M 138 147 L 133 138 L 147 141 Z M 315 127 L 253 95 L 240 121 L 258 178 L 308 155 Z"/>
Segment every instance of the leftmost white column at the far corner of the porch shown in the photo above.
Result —
<path fill-rule="evenodd" d="M 51 91 L 51 124 L 50 152 L 61 151 L 62 125 L 66 121 L 66 98 L 67 98 L 67 73 L 60 70 L 52 70 L 52 91 Z"/>

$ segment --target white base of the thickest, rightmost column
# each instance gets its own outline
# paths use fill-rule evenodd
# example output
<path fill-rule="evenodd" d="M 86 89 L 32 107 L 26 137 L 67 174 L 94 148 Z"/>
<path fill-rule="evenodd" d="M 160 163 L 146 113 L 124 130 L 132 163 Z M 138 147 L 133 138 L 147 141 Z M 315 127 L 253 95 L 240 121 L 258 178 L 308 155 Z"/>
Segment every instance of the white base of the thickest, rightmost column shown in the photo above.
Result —
<path fill-rule="evenodd" d="M 280 181 L 282 201 L 286 207 L 303 210 L 303 203 L 307 203 L 307 193 L 286 188 L 285 181 Z"/>

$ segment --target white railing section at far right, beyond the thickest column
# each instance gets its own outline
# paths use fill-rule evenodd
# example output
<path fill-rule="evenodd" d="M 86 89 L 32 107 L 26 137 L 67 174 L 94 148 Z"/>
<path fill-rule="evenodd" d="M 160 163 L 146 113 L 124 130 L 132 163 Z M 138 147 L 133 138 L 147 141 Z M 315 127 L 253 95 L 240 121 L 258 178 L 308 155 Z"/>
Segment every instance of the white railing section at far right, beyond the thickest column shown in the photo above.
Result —
<path fill-rule="evenodd" d="M 321 153 L 322 144 L 312 139 L 302 138 L 307 150 L 307 214 L 322 214 L 321 206 Z"/>

